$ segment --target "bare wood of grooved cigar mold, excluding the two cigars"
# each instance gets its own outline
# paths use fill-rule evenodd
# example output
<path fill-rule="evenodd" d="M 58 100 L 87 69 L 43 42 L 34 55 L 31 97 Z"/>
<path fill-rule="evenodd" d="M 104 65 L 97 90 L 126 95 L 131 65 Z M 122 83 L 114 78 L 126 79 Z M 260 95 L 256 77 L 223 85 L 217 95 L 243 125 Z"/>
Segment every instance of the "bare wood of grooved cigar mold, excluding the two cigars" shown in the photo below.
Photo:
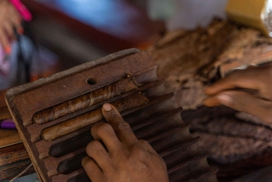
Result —
<path fill-rule="evenodd" d="M 34 113 L 40 110 L 121 81 L 128 74 L 141 83 L 138 89 L 45 124 L 36 124 L 32 120 Z M 90 79 L 92 84 L 88 83 Z M 189 125 L 180 119 L 181 109 L 171 106 L 173 94 L 165 93 L 164 81 L 158 80 L 156 64 L 152 61 L 150 53 L 130 49 L 110 54 L 94 62 L 87 62 L 68 71 L 11 89 L 7 91 L 5 100 L 40 179 L 46 182 L 82 182 L 89 180 L 81 167 L 81 159 L 85 146 L 92 138 L 92 126 L 78 129 L 52 141 L 42 139 L 41 132 L 57 123 L 100 108 L 103 102 L 126 98 L 139 91 L 150 101 L 145 105 L 125 110 L 121 115 L 131 124 L 136 137 L 151 142 L 151 146 L 166 161 L 170 181 L 202 181 L 204 178 L 217 181 L 216 170 L 209 168 L 206 155 L 201 154 L 195 145 L 198 139 L 190 136 Z M 195 167 L 191 168 L 191 165 Z M 80 168 L 75 168 L 76 166 Z"/>

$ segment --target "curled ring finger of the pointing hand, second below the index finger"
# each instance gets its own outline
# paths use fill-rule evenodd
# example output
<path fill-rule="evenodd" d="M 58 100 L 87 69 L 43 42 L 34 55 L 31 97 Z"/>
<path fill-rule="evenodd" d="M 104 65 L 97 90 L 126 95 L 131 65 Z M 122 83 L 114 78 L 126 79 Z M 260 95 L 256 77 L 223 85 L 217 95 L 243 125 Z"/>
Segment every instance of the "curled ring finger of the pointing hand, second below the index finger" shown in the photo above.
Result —
<path fill-rule="evenodd" d="M 98 140 L 93 140 L 86 147 L 86 153 L 93 158 L 100 168 L 109 165 L 110 155 Z"/>

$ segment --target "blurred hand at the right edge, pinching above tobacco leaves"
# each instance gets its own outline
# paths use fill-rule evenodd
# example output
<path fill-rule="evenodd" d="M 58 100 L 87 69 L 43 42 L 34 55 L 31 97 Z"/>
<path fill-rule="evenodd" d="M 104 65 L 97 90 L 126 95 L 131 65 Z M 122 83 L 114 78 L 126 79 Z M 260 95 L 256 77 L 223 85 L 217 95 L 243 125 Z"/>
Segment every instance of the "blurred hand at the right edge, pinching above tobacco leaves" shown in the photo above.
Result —
<path fill-rule="evenodd" d="M 272 124 L 272 63 L 230 73 L 209 86 L 204 105 L 226 105 Z M 237 89 L 255 90 L 255 94 Z"/>

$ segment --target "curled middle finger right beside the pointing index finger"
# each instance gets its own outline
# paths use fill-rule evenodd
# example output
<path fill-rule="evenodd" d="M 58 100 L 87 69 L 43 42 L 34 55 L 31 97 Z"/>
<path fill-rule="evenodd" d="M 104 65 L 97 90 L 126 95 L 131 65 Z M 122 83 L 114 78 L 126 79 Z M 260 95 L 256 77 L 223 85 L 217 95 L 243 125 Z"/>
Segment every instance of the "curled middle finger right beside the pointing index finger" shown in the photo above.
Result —
<path fill-rule="evenodd" d="M 97 123 L 92 127 L 91 132 L 94 139 L 102 140 L 110 153 L 112 151 L 120 150 L 121 142 L 110 124 L 102 122 Z"/>

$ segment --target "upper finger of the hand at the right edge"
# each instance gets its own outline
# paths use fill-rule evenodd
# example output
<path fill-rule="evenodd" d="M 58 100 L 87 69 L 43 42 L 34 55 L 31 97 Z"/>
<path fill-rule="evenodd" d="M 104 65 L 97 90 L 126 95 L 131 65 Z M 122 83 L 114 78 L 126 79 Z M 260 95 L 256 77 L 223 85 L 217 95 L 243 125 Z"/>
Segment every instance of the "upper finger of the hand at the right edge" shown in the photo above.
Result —
<path fill-rule="evenodd" d="M 259 79 L 259 71 L 261 70 L 249 68 L 247 70 L 232 72 L 226 78 L 206 88 L 204 92 L 207 95 L 214 95 L 220 91 L 226 91 L 234 88 L 258 90 L 261 84 Z"/>

